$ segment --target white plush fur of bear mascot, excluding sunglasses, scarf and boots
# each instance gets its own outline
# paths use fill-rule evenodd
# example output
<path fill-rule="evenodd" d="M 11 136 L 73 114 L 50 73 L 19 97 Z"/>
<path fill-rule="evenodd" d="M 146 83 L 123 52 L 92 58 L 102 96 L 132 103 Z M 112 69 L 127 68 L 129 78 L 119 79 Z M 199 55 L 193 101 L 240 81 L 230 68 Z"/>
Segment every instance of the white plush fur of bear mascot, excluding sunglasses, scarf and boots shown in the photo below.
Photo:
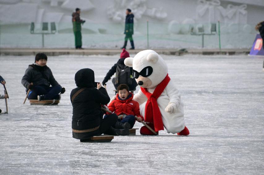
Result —
<path fill-rule="evenodd" d="M 140 73 L 147 66 L 151 66 L 153 72 L 150 76 L 139 76 L 136 78 L 138 84 L 143 88 L 147 88 L 148 92 L 153 93 L 156 86 L 168 74 L 168 66 L 162 57 L 153 50 L 144 50 L 139 52 L 134 58 L 126 58 L 125 65 L 133 67 L 133 70 Z M 139 83 L 139 81 L 142 81 Z M 137 101 L 140 105 L 140 114 L 145 117 L 145 105 L 147 97 L 141 90 L 134 95 L 133 100 Z M 176 87 L 173 85 L 172 80 L 157 98 L 157 103 L 162 115 L 162 121 L 168 133 L 179 133 L 185 128 L 183 102 L 181 102 L 181 95 Z"/>

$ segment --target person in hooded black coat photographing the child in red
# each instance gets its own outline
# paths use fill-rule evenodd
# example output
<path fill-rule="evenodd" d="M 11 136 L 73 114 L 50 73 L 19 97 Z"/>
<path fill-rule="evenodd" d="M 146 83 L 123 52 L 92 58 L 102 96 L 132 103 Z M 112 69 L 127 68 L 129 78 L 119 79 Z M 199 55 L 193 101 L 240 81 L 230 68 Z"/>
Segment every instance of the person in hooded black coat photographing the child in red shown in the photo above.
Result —
<path fill-rule="evenodd" d="M 110 102 L 110 98 L 101 83 L 94 81 L 92 69 L 81 69 L 75 74 L 77 88 L 70 93 L 72 112 L 72 137 L 87 140 L 95 135 L 129 135 L 128 129 L 114 129 L 117 115 L 111 114 L 103 119 L 101 105 Z M 79 90 L 82 90 L 81 92 Z M 79 94 L 75 95 L 76 93 Z M 75 97 L 74 97 L 75 96 Z M 74 98 L 73 98 L 74 97 Z"/>

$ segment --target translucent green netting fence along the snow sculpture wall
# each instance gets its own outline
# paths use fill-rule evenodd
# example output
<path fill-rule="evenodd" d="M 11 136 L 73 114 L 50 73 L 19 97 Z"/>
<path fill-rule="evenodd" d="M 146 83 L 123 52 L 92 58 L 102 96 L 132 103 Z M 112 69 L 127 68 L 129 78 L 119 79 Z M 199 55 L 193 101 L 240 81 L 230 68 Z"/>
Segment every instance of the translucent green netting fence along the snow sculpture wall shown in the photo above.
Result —
<path fill-rule="evenodd" d="M 220 29 L 220 33 L 219 33 Z M 250 48 L 256 31 L 250 24 L 134 24 L 136 48 Z M 84 48 L 120 48 L 122 23 L 84 23 Z M 1 23 L 1 48 L 74 48 L 72 23 Z"/>

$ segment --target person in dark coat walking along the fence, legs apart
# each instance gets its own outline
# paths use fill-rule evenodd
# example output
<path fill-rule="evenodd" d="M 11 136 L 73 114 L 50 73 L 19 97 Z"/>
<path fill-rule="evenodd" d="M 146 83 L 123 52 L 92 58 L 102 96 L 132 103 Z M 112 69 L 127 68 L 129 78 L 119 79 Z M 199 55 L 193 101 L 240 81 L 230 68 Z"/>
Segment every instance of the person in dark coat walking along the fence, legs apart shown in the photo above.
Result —
<path fill-rule="evenodd" d="M 121 49 L 123 48 L 126 49 L 127 40 L 130 40 L 130 44 L 131 44 L 130 49 L 135 49 L 134 41 L 132 38 L 132 35 L 134 34 L 134 15 L 130 9 L 126 9 L 126 22 L 125 22 L 124 34 L 126 34 L 125 42 L 124 42 L 124 46 Z"/>

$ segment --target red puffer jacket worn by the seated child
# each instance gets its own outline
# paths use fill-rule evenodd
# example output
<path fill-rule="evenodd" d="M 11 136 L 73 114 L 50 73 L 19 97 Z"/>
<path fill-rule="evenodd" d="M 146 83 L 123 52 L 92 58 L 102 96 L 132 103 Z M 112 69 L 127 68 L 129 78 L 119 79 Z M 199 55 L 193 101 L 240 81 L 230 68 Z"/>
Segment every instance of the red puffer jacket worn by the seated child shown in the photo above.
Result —
<path fill-rule="evenodd" d="M 133 94 L 131 92 L 129 93 L 128 97 L 129 98 L 127 98 L 126 100 L 120 100 L 117 94 L 116 99 L 109 104 L 109 110 L 117 115 L 136 115 L 144 120 L 143 116 L 140 115 L 138 102 L 132 100 Z"/>

